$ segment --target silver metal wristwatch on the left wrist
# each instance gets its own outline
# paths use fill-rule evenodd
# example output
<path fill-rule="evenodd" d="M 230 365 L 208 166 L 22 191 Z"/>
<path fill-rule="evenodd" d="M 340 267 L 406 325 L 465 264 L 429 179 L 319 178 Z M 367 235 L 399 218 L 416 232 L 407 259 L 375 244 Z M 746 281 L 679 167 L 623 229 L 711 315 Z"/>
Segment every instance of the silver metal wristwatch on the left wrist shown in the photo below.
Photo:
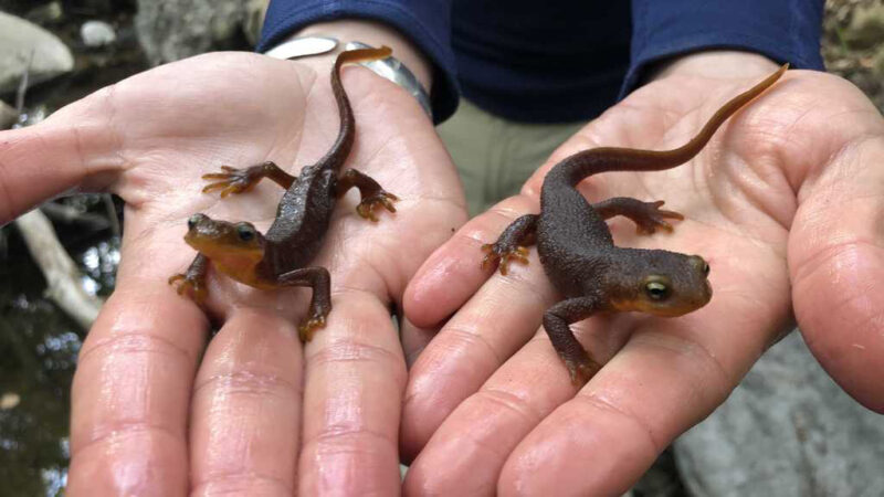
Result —
<path fill-rule="evenodd" d="M 264 52 L 264 55 L 274 59 L 301 59 L 311 55 L 320 55 L 324 53 L 334 52 L 338 49 L 340 42 L 332 36 L 303 36 L 286 40 L 278 45 Z M 362 42 L 351 41 L 344 45 L 344 50 L 355 49 L 372 49 Z M 389 80 L 397 85 L 401 86 L 406 92 L 410 93 L 418 104 L 423 108 L 423 112 L 433 119 L 433 110 L 430 106 L 430 96 L 420 81 L 414 76 L 402 61 L 393 56 L 380 59 L 375 61 L 359 62 L 359 65 L 368 67 L 380 77 Z"/>

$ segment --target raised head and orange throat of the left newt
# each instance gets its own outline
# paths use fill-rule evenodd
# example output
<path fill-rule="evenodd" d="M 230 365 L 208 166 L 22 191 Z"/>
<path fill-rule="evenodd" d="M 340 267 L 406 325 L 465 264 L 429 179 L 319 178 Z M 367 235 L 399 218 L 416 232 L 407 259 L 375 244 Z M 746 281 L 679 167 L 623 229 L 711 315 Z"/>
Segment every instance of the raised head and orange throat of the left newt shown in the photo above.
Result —
<path fill-rule="evenodd" d="M 209 257 L 223 273 L 243 283 L 253 279 L 264 258 L 264 236 L 251 223 L 215 221 L 193 214 L 187 221 L 185 242 Z"/>

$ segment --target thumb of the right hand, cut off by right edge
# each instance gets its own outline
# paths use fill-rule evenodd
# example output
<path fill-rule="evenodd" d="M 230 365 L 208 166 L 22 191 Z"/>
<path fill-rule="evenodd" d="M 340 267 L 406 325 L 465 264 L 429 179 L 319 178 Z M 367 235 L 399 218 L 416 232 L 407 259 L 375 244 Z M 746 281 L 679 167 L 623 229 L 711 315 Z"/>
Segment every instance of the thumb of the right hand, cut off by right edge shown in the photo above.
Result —
<path fill-rule="evenodd" d="M 800 195 L 789 261 L 794 311 L 811 351 L 848 393 L 884 413 L 884 382 L 873 373 L 884 370 L 884 172 L 875 166 L 882 162 L 883 139 L 834 156 Z"/>

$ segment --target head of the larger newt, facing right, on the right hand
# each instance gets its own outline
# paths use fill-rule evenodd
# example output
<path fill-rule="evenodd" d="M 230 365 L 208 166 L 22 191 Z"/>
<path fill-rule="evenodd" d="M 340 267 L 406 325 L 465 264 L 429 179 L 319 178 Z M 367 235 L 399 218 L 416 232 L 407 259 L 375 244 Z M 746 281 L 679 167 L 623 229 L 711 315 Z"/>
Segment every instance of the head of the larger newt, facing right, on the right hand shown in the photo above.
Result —
<path fill-rule="evenodd" d="M 614 309 L 676 317 L 712 299 L 709 265 L 703 257 L 660 250 L 628 251 L 632 252 L 624 258 L 628 263 L 613 268 L 617 282 L 610 302 Z"/>

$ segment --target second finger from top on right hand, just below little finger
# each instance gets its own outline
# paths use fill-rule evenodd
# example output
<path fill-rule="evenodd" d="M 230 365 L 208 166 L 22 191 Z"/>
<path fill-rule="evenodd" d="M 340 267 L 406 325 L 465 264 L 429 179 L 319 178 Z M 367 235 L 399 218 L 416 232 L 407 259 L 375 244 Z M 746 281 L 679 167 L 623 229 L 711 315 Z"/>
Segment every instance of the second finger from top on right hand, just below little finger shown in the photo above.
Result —
<path fill-rule="evenodd" d="M 512 213 L 497 224 L 504 226 L 518 215 Z M 475 263 L 480 257 L 471 258 Z M 411 368 L 402 406 L 406 459 L 420 452 L 457 404 L 478 390 L 540 325 L 554 290 L 536 255 L 528 266 L 517 269 L 507 276 L 491 273 L 491 279 L 445 324 Z M 490 274 L 477 263 L 472 273 Z"/>

